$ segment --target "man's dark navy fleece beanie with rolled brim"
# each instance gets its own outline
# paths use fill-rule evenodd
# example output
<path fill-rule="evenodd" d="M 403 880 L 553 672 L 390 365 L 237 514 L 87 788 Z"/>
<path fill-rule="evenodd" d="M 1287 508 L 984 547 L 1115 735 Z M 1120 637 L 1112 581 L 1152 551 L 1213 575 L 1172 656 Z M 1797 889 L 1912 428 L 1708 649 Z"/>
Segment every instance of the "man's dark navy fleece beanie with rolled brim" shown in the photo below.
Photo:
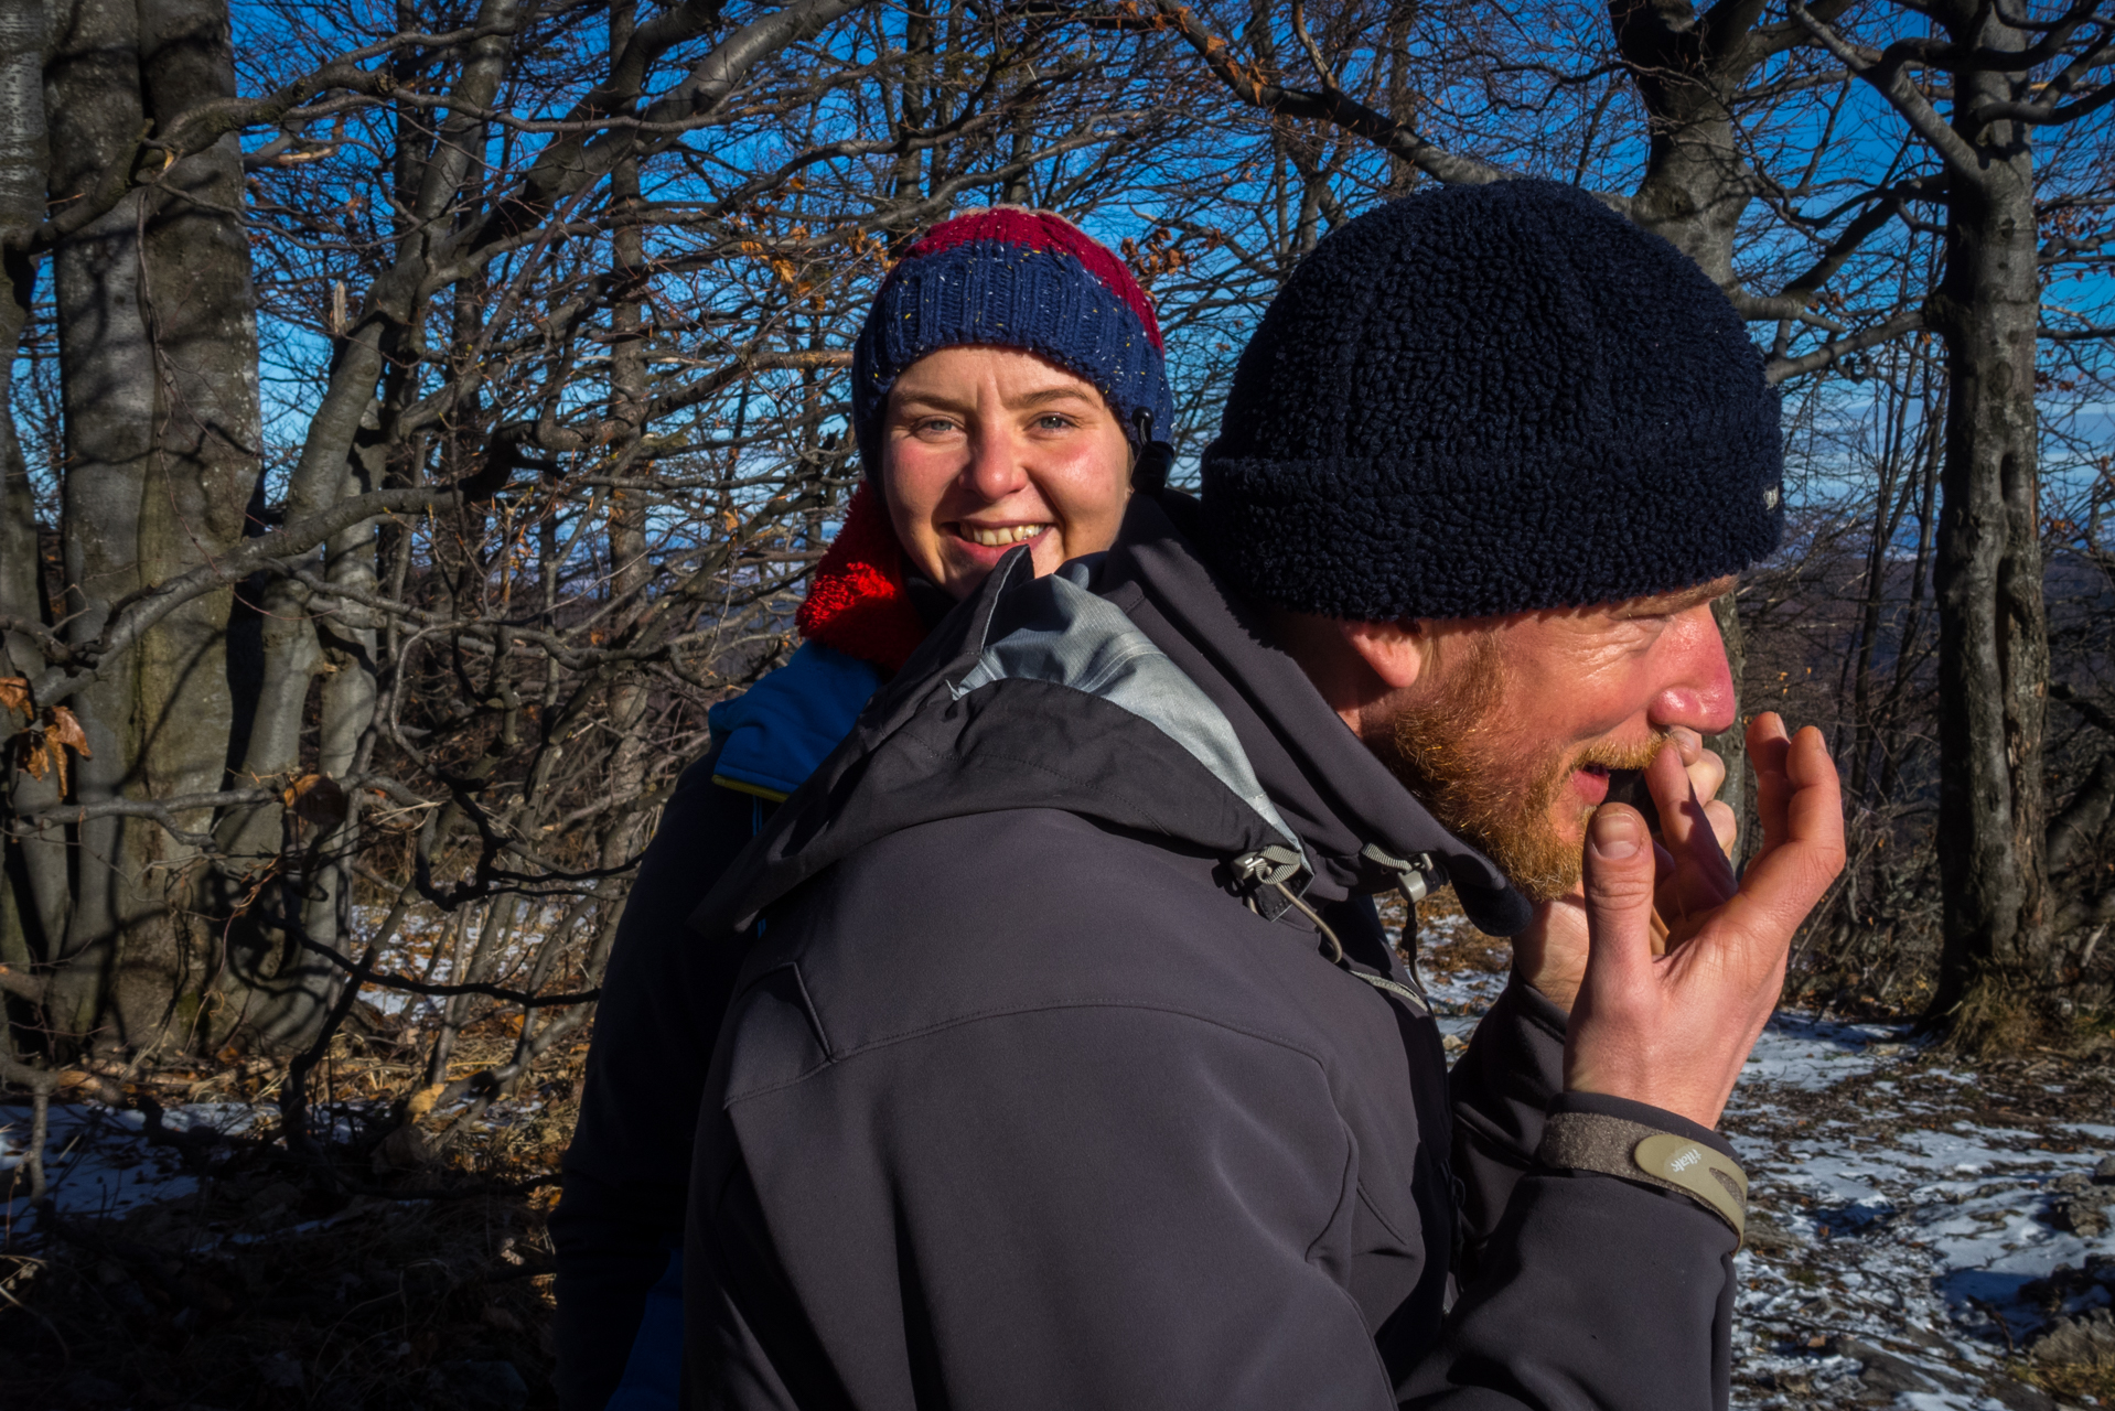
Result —
<path fill-rule="evenodd" d="M 1203 539 L 1328 618 L 1584 607 L 1777 548 L 1762 353 L 1679 250 L 1557 182 L 1447 186 L 1341 226 L 1242 353 Z"/>

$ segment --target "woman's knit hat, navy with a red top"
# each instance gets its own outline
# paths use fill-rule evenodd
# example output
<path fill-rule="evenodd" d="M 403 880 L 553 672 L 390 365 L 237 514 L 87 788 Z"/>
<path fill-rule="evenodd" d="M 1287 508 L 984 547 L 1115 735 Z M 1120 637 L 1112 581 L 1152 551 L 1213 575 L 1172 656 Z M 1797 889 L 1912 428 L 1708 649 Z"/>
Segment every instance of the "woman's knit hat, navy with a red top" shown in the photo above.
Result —
<path fill-rule="evenodd" d="M 897 377 L 962 343 L 1041 353 L 1087 379 L 1134 446 L 1174 427 L 1161 326 L 1132 271 L 1064 216 L 998 207 L 926 231 L 867 311 L 852 345 L 852 432 L 867 474 L 880 474 Z"/>

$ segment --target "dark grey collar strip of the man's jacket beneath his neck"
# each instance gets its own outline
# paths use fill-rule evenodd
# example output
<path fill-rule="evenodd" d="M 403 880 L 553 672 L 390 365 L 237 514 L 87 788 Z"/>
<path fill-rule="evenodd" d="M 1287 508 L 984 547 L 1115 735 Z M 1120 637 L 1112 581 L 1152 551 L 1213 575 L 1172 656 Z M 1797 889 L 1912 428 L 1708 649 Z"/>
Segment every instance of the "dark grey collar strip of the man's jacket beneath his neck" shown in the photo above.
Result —
<path fill-rule="evenodd" d="M 1225 713 L 1265 793 L 1301 833 L 1311 895 L 1337 901 L 1392 886 L 1366 855 L 1377 844 L 1398 859 L 1436 859 L 1478 929 L 1525 929 L 1531 908 L 1497 865 L 1440 827 L 1206 565 L 1178 527 L 1193 512 L 1184 495 L 1136 495 L 1098 586 Z"/>

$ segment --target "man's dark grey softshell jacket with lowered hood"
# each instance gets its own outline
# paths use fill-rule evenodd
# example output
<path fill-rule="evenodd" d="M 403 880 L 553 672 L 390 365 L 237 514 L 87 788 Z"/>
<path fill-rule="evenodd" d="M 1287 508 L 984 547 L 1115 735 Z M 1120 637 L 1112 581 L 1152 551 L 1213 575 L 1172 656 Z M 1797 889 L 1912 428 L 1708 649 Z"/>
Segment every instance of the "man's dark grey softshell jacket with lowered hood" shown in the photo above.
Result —
<path fill-rule="evenodd" d="M 1565 1108 L 1728 1149 L 1561 1094 L 1519 982 L 1449 1081 L 1371 895 L 1409 861 L 1485 929 L 1527 908 L 1184 508 L 1136 499 L 1053 578 L 1009 556 L 694 918 L 749 956 L 692 1166 L 689 1405 L 1724 1407 L 1732 1231 L 1533 1149 Z M 1288 853 L 1305 908 L 1254 863 Z"/>

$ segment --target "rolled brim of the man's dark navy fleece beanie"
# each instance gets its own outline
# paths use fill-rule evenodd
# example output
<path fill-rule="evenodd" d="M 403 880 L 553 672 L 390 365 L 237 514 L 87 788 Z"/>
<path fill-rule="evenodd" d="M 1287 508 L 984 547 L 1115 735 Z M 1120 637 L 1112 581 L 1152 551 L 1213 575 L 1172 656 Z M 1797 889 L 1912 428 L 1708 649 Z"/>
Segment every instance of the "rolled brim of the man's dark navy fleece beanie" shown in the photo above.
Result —
<path fill-rule="evenodd" d="M 1707 408 L 1658 444 L 1574 446 L 1531 478 L 1506 453 L 1208 451 L 1203 539 L 1252 599 L 1349 622 L 1497 618 L 1692 588 L 1777 548 L 1774 410 L 1774 400 Z M 1696 440 L 1705 453 L 1684 444 Z"/>

